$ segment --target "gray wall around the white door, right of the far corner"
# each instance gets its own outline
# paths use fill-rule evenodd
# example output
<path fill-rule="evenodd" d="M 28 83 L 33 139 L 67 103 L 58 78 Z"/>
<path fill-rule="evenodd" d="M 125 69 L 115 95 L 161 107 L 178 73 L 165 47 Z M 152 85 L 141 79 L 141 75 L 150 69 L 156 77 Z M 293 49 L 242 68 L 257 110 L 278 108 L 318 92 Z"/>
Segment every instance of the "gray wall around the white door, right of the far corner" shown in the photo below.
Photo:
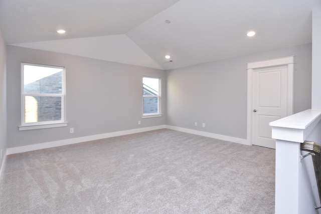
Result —
<path fill-rule="evenodd" d="M 294 113 L 311 108 L 311 44 L 305 44 L 167 71 L 167 125 L 246 139 L 247 63 L 287 56 L 295 56 Z"/>

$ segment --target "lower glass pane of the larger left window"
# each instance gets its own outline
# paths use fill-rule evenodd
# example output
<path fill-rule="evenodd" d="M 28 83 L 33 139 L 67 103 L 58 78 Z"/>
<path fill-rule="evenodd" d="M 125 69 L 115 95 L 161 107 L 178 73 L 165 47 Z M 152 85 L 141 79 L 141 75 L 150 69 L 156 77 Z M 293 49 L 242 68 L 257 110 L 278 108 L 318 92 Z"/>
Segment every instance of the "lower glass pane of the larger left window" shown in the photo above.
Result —
<path fill-rule="evenodd" d="M 61 99 L 25 96 L 25 123 L 61 120 Z"/>

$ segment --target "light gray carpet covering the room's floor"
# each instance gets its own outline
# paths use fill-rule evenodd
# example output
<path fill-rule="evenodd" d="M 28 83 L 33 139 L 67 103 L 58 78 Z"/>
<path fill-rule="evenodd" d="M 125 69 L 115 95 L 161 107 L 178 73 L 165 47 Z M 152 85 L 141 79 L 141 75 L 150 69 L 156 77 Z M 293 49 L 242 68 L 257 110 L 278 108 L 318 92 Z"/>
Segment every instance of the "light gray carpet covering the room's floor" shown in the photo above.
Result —
<path fill-rule="evenodd" d="M 275 150 L 162 129 L 7 157 L 0 213 L 274 213 Z"/>

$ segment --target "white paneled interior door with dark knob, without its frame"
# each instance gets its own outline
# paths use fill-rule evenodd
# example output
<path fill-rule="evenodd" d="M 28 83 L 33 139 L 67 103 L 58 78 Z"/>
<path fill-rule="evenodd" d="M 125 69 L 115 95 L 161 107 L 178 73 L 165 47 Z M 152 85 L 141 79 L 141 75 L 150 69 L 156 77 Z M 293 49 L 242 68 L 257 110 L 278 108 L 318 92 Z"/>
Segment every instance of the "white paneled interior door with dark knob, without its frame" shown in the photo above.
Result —
<path fill-rule="evenodd" d="M 252 144 L 275 148 L 269 122 L 287 116 L 287 66 L 253 70 Z"/>

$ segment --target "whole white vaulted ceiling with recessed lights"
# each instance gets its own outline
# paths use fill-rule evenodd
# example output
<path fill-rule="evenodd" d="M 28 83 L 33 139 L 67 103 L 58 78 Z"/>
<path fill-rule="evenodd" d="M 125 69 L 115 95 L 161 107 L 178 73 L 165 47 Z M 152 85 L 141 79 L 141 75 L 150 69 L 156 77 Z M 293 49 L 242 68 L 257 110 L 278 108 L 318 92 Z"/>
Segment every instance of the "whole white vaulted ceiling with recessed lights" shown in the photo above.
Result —
<path fill-rule="evenodd" d="M 0 0 L 0 27 L 7 44 L 168 70 L 310 43 L 318 6 L 319 0 Z M 250 30 L 252 38 L 245 35 Z M 173 62 L 165 62 L 167 54 Z"/>

